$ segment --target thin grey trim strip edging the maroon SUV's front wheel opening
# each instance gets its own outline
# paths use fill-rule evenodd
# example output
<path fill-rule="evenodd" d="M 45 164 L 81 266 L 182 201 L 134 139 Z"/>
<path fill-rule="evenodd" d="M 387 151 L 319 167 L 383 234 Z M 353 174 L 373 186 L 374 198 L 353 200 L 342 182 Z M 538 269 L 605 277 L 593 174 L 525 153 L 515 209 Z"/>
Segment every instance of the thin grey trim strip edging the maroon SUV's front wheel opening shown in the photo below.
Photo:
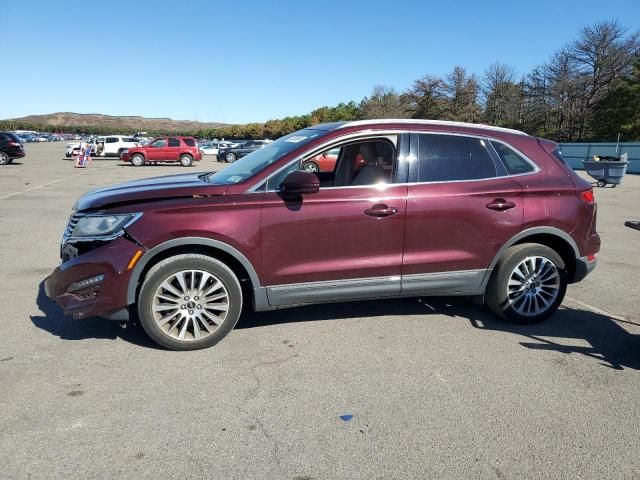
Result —
<path fill-rule="evenodd" d="M 254 290 L 260 287 L 260 279 L 258 278 L 258 274 L 253 268 L 253 265 L 251 265 L 249 259 L 231 245 L 220 242 L 218 240 L 212 240 L 210 238 L 204 237 L 182 237 L 175 238 L 173 240 L 169 240 L 167 242 L 156 245 L 150 250 L 147 250 L 147 252 L 142 256 L 140 261 L 136 264 L 133 271 L 131 272 L 131 278 L 129 279 L 129 285 L 127 286 L 127 305 L 131 305 L 136 301 L 136 288 L 138 286 L 138 280 L 140 279 L 140 275 L 142 274 L 144 267 L 151 260 L 153 260 L 153 258 L 158 253 L 168 250 L 169 248 L 182 247 L 184 245 L 202 245 L 206 247 L 214 247 L 218 250 L 222 250 L 223 252 L 228 253 L 233 258 L 238 260 L 245 268 L 245 270 L 249 274 L 249 279 L 251 280 L 251 284 Z"/>

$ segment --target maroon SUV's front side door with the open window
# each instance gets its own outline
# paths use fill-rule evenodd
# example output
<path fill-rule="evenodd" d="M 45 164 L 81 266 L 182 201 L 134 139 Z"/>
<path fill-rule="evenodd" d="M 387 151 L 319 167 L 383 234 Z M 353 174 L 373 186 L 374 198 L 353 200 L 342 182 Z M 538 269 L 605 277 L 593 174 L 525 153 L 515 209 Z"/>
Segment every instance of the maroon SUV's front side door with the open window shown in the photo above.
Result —
<path fill-rule="evenodd" d="M 267 184 L 261 243 L 270 304 L 400 293 L 407 185 L 394 183 L 398 142 L 364 143 L 343 145 L 335 170 L 322 174 L 320 191 L 301 201 L 287 202 L 273 191 L 287 170 Z M 361 148 L 370 163 L 359 171 Z"/>

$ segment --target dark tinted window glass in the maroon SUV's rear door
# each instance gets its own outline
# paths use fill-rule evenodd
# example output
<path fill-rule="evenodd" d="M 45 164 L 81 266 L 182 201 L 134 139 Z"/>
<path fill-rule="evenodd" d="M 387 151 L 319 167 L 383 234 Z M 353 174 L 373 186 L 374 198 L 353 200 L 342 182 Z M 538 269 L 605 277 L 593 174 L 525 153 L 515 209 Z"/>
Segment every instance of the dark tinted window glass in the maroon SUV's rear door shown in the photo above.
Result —
<path fill-rule="evenodd" d="M 485 140 L 461 135 L 418 134 L 410 182 L 480 180 L 497 176 Z"/>

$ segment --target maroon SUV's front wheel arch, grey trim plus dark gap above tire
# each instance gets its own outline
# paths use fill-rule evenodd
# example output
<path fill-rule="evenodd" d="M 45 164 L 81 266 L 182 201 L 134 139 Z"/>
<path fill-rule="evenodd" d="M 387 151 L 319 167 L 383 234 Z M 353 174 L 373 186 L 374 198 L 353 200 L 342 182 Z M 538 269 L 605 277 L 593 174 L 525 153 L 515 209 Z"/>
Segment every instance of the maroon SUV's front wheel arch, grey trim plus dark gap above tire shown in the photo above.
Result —
<path fill-rule="evenodd" d="M 245 293 L 260 290 L 260 279 L 253 265 L 237 249 L 218 240 L 202 237 L 176 238 L 161 243 L 148 250 L 134 267 L 127 286 L 127 305 L 136 303 L 140 286 L 147 272 L 158 262 L 182 253 L 200 253 L 216 258 L 225 263 L 236 274 Z"/>

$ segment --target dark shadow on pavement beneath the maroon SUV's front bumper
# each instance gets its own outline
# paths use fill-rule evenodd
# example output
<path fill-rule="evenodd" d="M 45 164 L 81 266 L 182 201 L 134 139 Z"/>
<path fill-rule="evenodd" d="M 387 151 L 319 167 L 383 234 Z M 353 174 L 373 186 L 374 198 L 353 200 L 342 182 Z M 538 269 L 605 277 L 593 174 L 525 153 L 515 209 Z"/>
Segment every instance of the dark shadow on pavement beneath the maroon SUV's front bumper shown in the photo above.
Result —
<path fill-rule="evenodd" d="M 73 320 L 64 315 L 62 309 L 47 297 L 44 291 L 44 281 L 40 283 L 38 288 L 36 303 L 42 315 L 32 315 L 33 324 L 61 340 L 87 340 L 90 338 L 115 340 L 121 338 L 141 347 L 161 350 L 161 347 L 147 337 L 140 325 L 129 324 L 126 328 L 122 328 L 118 322 L 105 318 L 91 317 Z"/>

